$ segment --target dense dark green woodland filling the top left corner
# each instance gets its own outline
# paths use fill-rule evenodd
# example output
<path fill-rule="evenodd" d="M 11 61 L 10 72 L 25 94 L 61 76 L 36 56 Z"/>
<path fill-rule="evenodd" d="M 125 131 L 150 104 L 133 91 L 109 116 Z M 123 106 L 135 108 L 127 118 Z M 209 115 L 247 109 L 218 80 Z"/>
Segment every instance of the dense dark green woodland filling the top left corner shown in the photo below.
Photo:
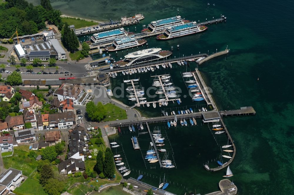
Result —
<path fill-rule="evenodd" d="M 18 35 L 37 33 L 46 27 L 45 21 L 61 28 L 61 11 L 52 8 L 49 0 L 34 6 L 25 0 L 7 0 L 0 4 L 0 37 L 10 38 L 16 28 Z"/>

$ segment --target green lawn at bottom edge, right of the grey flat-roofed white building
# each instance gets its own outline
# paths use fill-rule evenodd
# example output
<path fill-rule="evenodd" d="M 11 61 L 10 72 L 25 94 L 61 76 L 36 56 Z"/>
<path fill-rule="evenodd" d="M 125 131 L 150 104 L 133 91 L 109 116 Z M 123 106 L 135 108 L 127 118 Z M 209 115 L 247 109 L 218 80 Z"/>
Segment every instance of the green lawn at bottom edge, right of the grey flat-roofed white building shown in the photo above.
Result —
<path fill-rule="evenodd" d="M 24 181 L 24 183 L 22 183 L 20 187 L 17 187 L 13 192 L 19 195 L 47 195 L 41 184 L 39 184 L 37 180 L 31 178 L 26 179 L 26 181 Z"/>

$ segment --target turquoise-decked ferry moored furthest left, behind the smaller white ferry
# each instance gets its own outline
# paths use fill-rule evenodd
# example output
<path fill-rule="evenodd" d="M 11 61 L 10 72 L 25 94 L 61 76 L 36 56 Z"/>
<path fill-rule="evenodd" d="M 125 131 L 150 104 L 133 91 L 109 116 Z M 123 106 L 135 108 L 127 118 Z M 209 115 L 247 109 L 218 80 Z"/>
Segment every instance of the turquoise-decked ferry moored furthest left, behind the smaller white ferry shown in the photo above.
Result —
<path fill-rule="evenodd" d="M 127 37 L 129 34 L 124 28 L 109 30 L 106 32 L 95 33 L 91 36 L 92 45 L 99 45 L 106 42 L 112 42 L 116 38 Z"/>

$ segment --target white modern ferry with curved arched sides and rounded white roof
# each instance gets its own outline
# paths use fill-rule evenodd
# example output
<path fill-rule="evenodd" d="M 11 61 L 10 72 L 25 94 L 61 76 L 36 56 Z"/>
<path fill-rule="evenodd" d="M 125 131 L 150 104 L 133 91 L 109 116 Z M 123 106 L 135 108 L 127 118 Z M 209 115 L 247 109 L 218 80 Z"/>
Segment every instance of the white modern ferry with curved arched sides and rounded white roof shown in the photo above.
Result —
<path fill-rule="evenodd" d="M 125 59 L 118 61 L 115 64 L 120 67 L 131 66 L 133 64 L 141 64 L 148 61 L 163 59 L 170 56 L 171 54 L 171 51 L 161 51 L 161 48 L 143 49 L 126 55 Z"/>

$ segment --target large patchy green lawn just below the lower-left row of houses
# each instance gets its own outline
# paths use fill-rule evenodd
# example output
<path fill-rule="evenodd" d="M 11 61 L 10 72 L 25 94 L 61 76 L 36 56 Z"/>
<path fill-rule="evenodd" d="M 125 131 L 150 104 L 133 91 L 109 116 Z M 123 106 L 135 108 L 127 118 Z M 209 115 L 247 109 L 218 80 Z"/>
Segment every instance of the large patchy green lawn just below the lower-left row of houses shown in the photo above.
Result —
<path fill-rule="evenodd" d="M 37 167 L 37 161 L 28 157 L 29 146 L 16 146 L 12 156 L 3 158 L 6 169 L 9 167 L 22 170 L 23 175 L 29 176 Z M 37 154 L 40 152 L 36 151 Z"/>

